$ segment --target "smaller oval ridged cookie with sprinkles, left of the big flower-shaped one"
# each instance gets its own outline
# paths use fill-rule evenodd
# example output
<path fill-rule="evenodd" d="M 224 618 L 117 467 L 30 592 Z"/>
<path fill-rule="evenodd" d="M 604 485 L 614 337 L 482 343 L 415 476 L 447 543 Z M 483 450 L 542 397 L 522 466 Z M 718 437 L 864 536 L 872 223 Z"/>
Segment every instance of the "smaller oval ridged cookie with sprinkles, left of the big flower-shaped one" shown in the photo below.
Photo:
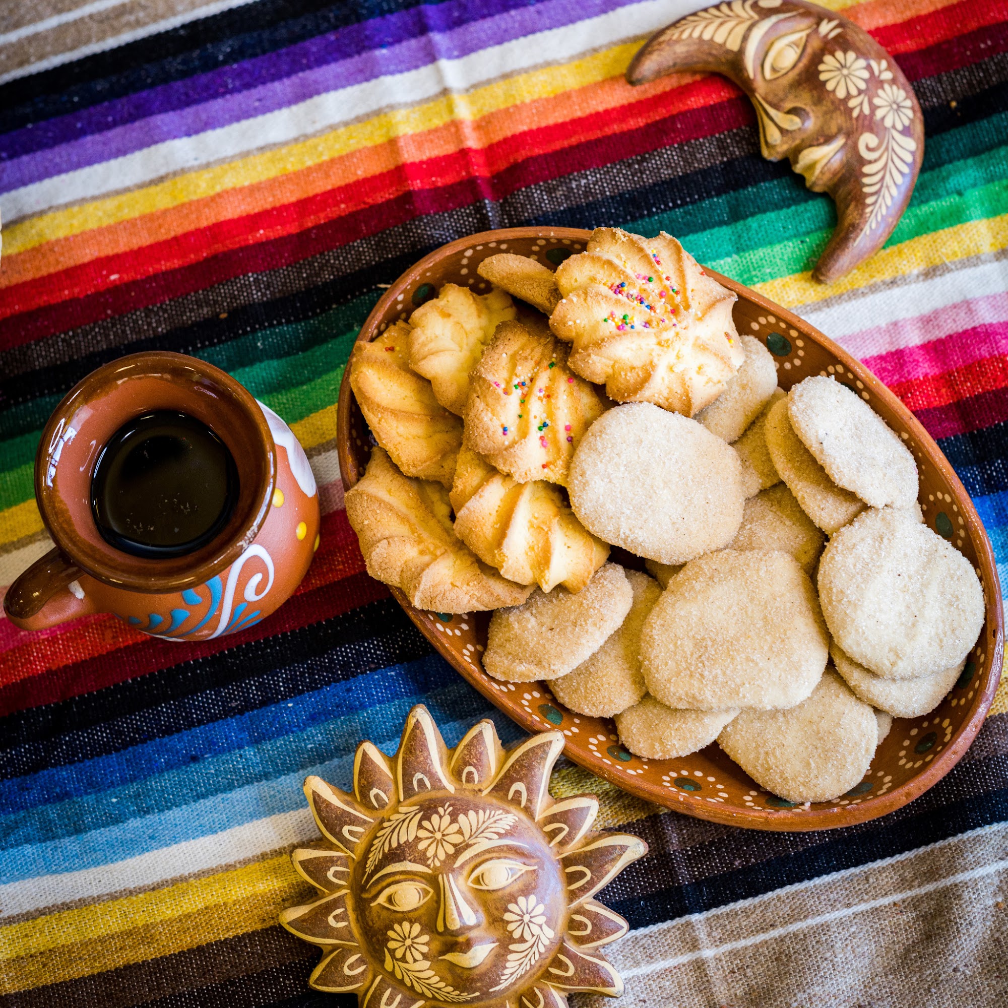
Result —
<path fill-rule="evenodd" d="M 603 408 L 595 389 L 568 367 L 564 344 L 502 323 L 473 372 L 463 436 L 519 483 L 565 486 L 575 449 Z"/>

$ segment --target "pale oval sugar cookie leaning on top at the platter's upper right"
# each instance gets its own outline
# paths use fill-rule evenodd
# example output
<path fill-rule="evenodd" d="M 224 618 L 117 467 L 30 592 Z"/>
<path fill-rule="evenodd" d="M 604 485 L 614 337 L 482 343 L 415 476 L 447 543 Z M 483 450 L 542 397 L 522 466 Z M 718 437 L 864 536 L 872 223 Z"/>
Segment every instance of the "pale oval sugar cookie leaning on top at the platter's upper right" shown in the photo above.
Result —
<path fill-rule="evenodd" d="M 857 392 L 815 375 L 787 395 L 791 427 L 839 487 L 872 507 L 909 507 L 917 464 L 899 435 Z"/>

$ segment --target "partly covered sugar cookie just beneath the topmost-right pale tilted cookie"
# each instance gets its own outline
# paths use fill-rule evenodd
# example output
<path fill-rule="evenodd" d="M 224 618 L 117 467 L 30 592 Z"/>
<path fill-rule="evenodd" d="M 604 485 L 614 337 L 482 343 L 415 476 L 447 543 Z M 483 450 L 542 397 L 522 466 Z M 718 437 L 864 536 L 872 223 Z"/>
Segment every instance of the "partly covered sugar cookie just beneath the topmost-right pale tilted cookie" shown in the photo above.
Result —
<path fill-rule="evenodd" d="M 764 428 L 773 468 L 794 494 L 801 510 L 833 535 L 865 509 L 864 502 L 838 487 L 791 428 L 787 400 L 774 404 Z"/>

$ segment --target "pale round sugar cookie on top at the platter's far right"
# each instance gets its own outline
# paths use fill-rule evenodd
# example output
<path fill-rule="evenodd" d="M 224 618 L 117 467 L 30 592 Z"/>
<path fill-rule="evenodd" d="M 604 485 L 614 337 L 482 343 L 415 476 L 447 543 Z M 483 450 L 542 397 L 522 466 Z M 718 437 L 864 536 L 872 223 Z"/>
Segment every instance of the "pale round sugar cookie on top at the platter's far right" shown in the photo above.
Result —
<path fill-rule="evenodd" d="M 817 580 L 837 643 L 884 678 L 959 664 L 984 624 L 972 564 L 909 508 L 872 508 L 842 528 L 823 553 Z"/>

